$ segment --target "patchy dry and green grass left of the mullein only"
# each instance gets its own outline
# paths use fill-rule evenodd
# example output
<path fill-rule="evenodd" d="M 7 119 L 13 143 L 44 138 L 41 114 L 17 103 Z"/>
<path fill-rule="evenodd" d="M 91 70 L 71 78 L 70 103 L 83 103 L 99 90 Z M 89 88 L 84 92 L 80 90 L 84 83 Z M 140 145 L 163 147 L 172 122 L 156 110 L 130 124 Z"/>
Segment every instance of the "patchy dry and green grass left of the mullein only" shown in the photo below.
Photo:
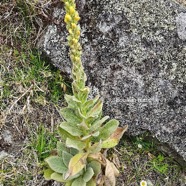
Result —
<path fill-rule="evenodd" d="M 54 4 L 35 2 L 0 3 L 0 183 L 6 186 L 47 184 L 35 139 L 40 125 L 52 136 L 61 120 L 63 77 L 35 49 Z"/>

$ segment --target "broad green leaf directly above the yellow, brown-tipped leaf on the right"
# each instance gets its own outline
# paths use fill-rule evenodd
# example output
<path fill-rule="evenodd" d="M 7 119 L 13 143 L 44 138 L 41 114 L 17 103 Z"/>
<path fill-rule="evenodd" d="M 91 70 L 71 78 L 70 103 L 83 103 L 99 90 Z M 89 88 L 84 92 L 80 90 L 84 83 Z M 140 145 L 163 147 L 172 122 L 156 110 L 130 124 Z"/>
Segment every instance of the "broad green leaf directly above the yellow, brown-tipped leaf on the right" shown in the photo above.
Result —
<path fill-rule="evenodd" d="M 99 131 L 99 140 L 106 140 L 110 135 L 117 129 L 119 125 L 119 121 L 116 119 L 112 119 L 107 122 Z"/>

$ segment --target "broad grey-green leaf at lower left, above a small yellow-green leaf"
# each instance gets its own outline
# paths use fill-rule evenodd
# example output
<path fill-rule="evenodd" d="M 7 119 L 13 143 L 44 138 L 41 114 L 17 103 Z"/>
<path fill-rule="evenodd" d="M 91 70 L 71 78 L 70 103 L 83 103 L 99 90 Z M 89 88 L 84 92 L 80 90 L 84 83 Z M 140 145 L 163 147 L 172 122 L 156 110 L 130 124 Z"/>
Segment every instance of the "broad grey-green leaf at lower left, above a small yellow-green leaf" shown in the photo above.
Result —
<path fill-rule="evenodd" d="M 49 167 L 58 173 L 65 173 L 67 171 L 67 167 L 63 163 L 63 159 L 58 156 L 50 156 L 45 159 L 45 161 L 48 163 Z"/>

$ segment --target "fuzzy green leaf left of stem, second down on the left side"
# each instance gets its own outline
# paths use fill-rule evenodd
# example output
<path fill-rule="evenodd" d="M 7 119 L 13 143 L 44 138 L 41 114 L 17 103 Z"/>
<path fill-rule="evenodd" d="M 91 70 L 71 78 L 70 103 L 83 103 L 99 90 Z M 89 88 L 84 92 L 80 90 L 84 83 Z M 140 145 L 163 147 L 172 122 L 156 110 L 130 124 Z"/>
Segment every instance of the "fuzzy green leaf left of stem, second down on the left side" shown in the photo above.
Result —
<path fill-rule="evenodd" d="M 82 119 L 77 115 L 75 110 L 72 108 L 63 108 L 60 110 L 60 112 L 64 119 L 73 125 L 82 122 Z"/>

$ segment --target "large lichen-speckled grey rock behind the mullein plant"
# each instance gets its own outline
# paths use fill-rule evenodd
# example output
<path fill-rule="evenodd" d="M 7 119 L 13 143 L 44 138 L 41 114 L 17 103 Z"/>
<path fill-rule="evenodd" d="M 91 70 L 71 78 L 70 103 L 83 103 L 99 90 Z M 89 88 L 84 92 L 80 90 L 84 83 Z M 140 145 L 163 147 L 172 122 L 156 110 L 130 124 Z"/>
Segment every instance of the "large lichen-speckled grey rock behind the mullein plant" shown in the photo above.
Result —
<path fill-rule="evenodd" d="M 130 135 L 149 131 L 186 160 L 186 41 L 176 28 L 182 12 L 170 0 L 87 0 L 80 24 L 87 84 L 104 98 L 104 114 L 128 124 Z M 63 22 L 50 25 L 39 47 L 70 75 L 66 35 Z"/>

